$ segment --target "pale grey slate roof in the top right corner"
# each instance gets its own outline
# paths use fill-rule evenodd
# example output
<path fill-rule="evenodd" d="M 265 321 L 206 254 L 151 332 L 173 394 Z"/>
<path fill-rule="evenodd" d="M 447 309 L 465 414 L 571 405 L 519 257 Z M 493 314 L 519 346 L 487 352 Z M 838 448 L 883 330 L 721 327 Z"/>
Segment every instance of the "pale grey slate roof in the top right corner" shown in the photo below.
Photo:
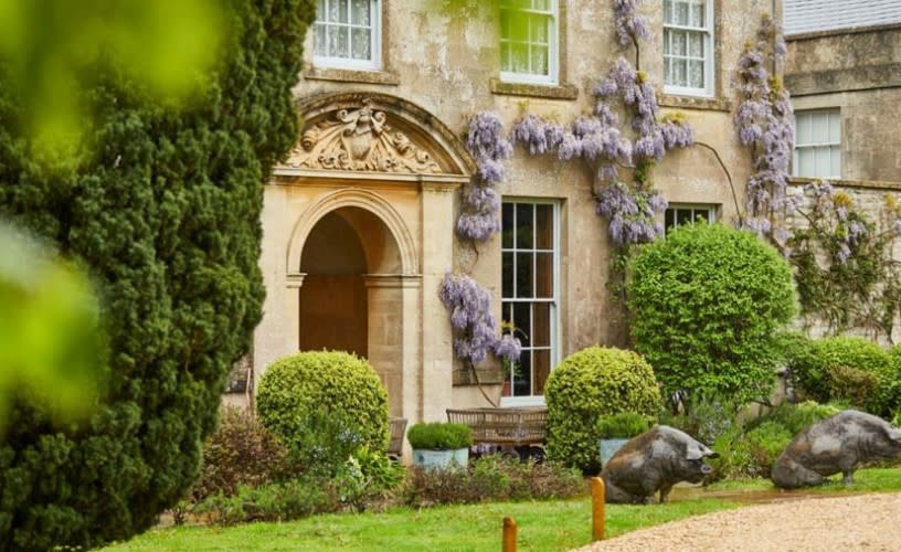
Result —
<path fill-rule="evenodd" d="M 901 0 L 784 0 L 786 35 L 901 23 Z"/>

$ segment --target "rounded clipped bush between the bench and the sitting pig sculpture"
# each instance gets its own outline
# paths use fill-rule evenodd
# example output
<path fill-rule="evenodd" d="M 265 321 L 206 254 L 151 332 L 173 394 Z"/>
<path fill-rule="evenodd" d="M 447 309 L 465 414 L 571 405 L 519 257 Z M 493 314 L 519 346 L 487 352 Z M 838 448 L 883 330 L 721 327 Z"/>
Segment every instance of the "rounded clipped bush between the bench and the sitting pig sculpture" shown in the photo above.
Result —
<path fill-rule="evenodd" d="M 548 456 L 585 473 L 601 467 L 597 417 L 634 412 L 654 418 L 660 392 L 650 364 L 633 351 L 590 347 L 566 357 L 551 372 Z"/>

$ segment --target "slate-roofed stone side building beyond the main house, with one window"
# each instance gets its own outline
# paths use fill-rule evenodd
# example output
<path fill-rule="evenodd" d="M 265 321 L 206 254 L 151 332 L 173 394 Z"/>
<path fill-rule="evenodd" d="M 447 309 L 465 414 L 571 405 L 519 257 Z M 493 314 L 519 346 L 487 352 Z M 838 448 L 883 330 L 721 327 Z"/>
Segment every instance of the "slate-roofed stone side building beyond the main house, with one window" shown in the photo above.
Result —
<path fill-rule="evenodd" d="M 796 118 L 792 193 L 809 211 L 804 187 L 828 180 L 889 230 L 887 201 L 901 202 L 901 3 L 785 0 L 785 85 Z M 807 225 L 799 213 L 791 223 Z M 814 335 L 834 332 L 822 320 L 805 323 Z M 849 331 L 898 342 L 899 326 L 891 335 Z"/>

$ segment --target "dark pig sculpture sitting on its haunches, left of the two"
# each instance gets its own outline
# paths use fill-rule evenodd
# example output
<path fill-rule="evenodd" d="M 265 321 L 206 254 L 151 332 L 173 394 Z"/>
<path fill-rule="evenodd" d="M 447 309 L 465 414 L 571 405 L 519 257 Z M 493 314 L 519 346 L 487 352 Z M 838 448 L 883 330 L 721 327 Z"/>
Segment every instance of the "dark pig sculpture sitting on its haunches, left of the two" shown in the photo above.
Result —
<path fill-rule="evenodd" d="M 623 445 L 604 465 L 606 501 L 650 503 L 659 490 L 660 502 L 666 502 L 674 485 L 700 482 L 712 470 L 703 459 L 718 456 L 688 434 L 658 425 Z"/>

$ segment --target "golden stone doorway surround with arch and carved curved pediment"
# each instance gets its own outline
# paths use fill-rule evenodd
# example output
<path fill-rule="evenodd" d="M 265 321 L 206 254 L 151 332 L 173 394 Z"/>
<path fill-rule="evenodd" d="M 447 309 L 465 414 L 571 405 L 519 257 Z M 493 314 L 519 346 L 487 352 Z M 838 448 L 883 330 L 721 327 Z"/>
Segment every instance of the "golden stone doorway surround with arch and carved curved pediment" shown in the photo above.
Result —
<path fill-rule="evenodd" d="M 378 93 L 301 98 L 301 137 L 264 190 L 263 319 L 254 374 L 299 347 L 304 245 L 329 213 L 362 210 L 358 227 L 369 274 L 369 361 L 392 416 L 439 421 L 452 406 L 453 336 L 438 285 L 454 267 L 456 191 L 471 158 L 421 107 Z"/>

